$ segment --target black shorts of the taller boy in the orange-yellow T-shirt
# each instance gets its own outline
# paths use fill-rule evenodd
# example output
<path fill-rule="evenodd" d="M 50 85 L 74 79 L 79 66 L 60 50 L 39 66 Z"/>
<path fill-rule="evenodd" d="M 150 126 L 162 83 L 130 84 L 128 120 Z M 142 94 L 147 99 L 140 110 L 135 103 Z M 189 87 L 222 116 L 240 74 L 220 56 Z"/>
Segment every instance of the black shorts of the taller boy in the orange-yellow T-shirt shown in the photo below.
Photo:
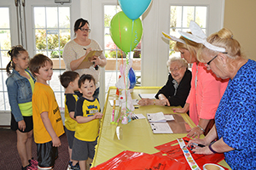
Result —
<path fill-rule="evenodd" d="M 54 167 L 58 157 L 58 148 L 52 145 L 52 141 L 37 144 L 38 167 Z"/>

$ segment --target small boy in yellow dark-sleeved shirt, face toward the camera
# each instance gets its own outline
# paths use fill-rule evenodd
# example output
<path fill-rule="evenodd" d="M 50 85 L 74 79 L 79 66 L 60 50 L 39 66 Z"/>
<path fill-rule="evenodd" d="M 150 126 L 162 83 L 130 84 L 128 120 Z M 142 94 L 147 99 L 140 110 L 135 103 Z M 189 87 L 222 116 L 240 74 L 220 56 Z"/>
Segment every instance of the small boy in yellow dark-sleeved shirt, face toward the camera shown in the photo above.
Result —
<path fill-rule="evenodd" d="M 96 90 L 94 77 L 84 74 L 79 78 L 79 92 L 83 94 L 77 101 L 74 117 L 78 124 L 73 140 L 72 159 L 79 161 L 81 170 L 88 170 L 95 155 L 99 135 L 100 118 L 103 114 L 98 99 L 93 97 Z"/>

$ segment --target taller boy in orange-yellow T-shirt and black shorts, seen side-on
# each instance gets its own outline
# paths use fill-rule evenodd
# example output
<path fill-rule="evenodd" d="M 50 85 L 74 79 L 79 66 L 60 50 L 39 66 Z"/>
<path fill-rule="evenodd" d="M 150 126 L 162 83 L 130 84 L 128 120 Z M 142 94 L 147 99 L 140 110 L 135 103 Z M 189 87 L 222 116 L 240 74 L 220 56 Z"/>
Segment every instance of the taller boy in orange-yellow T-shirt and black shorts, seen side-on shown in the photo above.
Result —
<path fill-rule="evenodd" d="M 64 133 L 59 105 L 49 81 L 53 74 L 53 63 L 44 54 L 36 54 L 29 69 L 37 77 L 32 94 L 32 116 L 34 139 L 37 144 L 38 169 L 53 169 L 61 145 L 59 137 Z"/>

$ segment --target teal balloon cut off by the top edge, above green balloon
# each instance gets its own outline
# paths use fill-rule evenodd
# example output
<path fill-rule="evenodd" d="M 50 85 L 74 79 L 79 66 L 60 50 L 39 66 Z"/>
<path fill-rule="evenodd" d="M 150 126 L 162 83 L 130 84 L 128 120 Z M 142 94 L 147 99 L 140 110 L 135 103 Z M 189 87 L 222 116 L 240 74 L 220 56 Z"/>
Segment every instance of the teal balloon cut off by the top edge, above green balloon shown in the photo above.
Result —
<path fill-rule="evenodd" d="M 120 7 L 131 20 L 137 20 L 150 3 L 151 0 L 119 0 Z"/>

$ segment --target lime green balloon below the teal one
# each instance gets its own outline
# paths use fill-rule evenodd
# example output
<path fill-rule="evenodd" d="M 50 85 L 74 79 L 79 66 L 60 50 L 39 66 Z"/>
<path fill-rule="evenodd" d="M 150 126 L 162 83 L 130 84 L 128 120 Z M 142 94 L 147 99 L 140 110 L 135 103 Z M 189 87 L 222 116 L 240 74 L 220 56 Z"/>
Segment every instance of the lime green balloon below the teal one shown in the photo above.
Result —
<path fill-rule="evenodd" d="M 113 16 L 109 31 L 113 42 L 122 51 L 130 52 L 141 41 L 143 24 L 140 18 L 131 20 L 121 11 Z"/>

